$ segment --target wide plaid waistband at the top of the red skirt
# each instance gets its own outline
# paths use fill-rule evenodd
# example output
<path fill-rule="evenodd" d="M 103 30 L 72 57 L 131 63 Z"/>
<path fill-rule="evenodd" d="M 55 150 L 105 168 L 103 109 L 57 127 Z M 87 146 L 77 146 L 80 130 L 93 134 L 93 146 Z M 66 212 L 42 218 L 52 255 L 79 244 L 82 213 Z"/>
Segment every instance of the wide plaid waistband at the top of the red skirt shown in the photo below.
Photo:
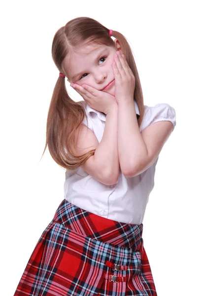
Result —
<path fill-rule="evenodd" d="M 103 243 L 132 249 L 143 247 L 143 224 L 127 224 L 109 220 L 83 210 L 64 199 L 58 207 L 54 221 Z"/>

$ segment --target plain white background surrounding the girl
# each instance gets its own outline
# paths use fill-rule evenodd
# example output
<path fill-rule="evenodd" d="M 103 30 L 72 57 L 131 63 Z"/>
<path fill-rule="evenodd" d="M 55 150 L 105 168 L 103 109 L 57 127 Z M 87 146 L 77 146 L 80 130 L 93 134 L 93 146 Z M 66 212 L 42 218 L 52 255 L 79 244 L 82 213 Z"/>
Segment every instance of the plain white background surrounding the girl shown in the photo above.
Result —
<path fill-rule="evenodd" d="M 144 104 L 167 103 L 177 125 L 160 153 L 143 239 L 158 296 L 196 293 L 196 1 L 4 1 L 0 7 L 0 294 L 12 296 L 64 199 L 65 171 L 46 150 L 47 112 L 59 72 L 56 31 L 89 16 L 127 37 Z M 67 82 L 66 82 L 67 83 Z M 76 101 L 81 100 L 71 89 Z"/>

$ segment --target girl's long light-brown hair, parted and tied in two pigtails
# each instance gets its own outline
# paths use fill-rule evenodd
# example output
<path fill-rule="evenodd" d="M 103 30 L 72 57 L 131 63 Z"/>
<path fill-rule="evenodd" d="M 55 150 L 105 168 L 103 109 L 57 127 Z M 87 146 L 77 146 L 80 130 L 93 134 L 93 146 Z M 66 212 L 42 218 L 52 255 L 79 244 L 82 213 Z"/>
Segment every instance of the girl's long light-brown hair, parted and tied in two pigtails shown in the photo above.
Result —
<path fill-rule="evenodd" d="M 138 126 L 140 126 L 144 113 L 143 94 L 131 47 L 121 33 L 112 31 L 112 36 L 120 42 L 122 52 L 135 77 L 134 100 L 140 112 L 140 116 L 137 116 Z M 109 36 L 109 29 L 98 21 L 89 17 L 72 19 L 64 27 L 60 28 L 53 38 L 52 58 L 60 73 L 65 74 L 67 77 L 66 69 L 63 68 L 63 61 L 66 55 L 71 49 L 85 43 L 97 43 L 115 47 L 113 39 Z M 52 158 L 65 169 L 75 170 L 95 153 L 95 149 L 92 149 L 83 155 L 75 155 L 75 135 L 76 133 L 78 134 L 84 117 L 87 120 L 83 103 L 74 102 L 68 96 L 65 78 L 59 76 L 49 106 L 46 144 L 43 154 L 48 145 Z"/>

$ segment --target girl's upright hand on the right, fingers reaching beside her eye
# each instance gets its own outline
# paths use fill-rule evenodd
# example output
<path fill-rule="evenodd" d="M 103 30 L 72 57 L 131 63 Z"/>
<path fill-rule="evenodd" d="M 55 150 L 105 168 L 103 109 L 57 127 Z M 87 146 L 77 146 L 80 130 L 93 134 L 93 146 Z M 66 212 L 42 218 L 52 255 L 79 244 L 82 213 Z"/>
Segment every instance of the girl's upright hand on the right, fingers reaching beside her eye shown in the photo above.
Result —
<path fill-rule="evenodd" d="M 129 67 L 125 56 L 118 51 L 114 55 L 112 69 L 115 78 L 115 99 L 116 102 L 133 100 L 135 89 L 135 77 Z"/>

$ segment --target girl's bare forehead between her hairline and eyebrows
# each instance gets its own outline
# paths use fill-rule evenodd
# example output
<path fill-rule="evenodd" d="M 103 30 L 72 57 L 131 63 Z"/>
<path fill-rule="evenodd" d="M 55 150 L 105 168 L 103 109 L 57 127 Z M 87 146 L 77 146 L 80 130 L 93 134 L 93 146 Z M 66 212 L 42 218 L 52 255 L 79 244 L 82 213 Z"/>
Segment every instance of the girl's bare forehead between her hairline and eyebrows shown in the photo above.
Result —
<path fill-rule="evenodd" d="M 64 60 L 64 68 L 68 77 L 88 67 L 101 51 L 108 48 L 109 46 L 103 44 L 87 44 L 69 51 Z"/>

